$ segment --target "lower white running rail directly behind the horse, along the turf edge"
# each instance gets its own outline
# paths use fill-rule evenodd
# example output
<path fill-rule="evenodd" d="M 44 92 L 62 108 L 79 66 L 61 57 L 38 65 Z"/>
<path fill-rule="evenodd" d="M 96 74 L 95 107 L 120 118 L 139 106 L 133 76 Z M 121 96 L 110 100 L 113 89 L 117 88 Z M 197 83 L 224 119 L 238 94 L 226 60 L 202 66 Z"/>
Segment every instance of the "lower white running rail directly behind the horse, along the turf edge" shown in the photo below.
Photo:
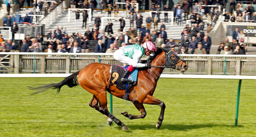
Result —
<path fill-rule="evenodd" d="M 71 74 L 0 74 L 0 77 L 68 77 Z M 160 78 L 256 80 L 256 76 L 161 74 Z"/>

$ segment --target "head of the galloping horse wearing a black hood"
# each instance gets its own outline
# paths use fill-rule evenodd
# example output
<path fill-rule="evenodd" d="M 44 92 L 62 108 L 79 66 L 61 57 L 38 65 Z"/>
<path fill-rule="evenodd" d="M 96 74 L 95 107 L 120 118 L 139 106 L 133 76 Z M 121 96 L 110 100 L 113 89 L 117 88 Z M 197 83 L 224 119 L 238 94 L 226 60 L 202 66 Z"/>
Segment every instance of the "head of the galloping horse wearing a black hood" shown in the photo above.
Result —
<path fill-rule="evenodd" d="M 187 70 L 188 65 L 182 59 L 180 59 L 176 53 L 167 48 L 161 49 L 165 52 L 165 67 L 171 67 L 173 69 L 180 70 L 180 72 Z"/>

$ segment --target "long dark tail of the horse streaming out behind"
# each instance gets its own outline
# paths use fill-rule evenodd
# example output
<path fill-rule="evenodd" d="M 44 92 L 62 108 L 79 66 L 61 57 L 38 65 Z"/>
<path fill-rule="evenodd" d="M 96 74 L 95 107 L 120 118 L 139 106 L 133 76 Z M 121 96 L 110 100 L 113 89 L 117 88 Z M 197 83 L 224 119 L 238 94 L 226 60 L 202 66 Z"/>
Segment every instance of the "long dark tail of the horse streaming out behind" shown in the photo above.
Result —
<path fill-rule="evenodd" d="M 75 86 L 79 85 L 79 83 L 76 79 L 79 72 L 80 72 L 80 70 L 77 71 L 76 73 L 73 73 L 70 76 L 66 77 L 64 80 L 62 80 L 59 83 L 45 84 L 41 87 L 29 87 L 30 90 L 37 90 L 37 92 L 30 94 L 30 96 L 42 93 L 44 91 L 48 91 L 49 89 L 57 89 L 56 94 L 59 94 L 61 87 L 64 85 L 67 85 L 69 87 L 75 87 Z"/>

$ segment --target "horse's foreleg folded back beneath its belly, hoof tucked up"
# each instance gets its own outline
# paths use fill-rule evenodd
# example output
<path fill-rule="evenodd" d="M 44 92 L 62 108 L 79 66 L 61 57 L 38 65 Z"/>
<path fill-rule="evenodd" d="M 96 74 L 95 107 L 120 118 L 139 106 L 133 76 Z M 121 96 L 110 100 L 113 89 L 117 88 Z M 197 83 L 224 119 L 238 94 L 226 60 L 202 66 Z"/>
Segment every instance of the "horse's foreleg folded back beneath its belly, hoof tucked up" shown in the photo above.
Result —
<path fill-rule="evenodd" d="M 146 113 L 146 110 L 145 110 L 143 104 L 139 103 L 138 101 L 134 101 L 133 104 L 140 111 L 141 115 L 131 115 L 131 114 L 128 114 L 128 112 L 126 112 L 126 111 L 122 112 L 121 114 L 123 114 L 125 117 L 127 117 L 129 119 L 145 118 L 147 113 Z"/>

